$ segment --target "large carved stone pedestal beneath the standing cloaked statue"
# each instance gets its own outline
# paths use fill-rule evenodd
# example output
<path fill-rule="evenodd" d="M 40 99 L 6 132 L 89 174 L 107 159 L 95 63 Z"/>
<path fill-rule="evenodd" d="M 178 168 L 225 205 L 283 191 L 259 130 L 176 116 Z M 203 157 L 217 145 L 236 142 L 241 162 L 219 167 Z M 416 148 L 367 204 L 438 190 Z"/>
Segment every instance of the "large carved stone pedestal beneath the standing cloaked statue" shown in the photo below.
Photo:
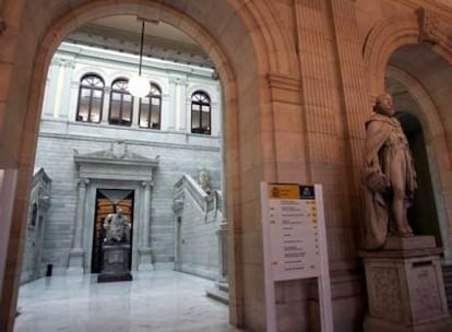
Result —
<path fill-rule="evenodd" d="M 451 331 L 439 254 L 432 236 L 389 237 L 361 251 L 369 309 L 365 332 Z"/>

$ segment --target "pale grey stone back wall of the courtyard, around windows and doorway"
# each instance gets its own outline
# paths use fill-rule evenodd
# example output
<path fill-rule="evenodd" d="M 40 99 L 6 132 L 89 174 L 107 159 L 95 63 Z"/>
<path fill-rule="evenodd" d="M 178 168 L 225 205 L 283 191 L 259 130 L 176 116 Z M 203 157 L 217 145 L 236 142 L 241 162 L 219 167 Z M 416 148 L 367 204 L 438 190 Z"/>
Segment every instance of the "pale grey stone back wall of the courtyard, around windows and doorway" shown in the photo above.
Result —
<path fill-rule="evenodd" d="M 74 218 L 80 179 L 74 155 L 108 151 L 115 142 L 121 142 L 129 153 L 147 158 L 158 157 L 158 167 L 152 174 L 148 240 L 155 268 L 173 268 L 175 261 L 174 183 L 182 174 L 195 177 L 199 169 L 206 167 L 211 170 L 212 185 L 215 188 L 221 186 L 219 138 L 216 135 L 221 127 L 218 82 L 211 78 L 210 69 L 191 68 L 179 63 L 173 71 L 166 69 L 167 64 L 165 70 L 162 70 L 159 68 L 163 66 L 162 61 L 154 63 L 146 60 L 147 70 L 156 74 L 155 79 L 162 87 L 162 130 L 138 127 L 138 100 L 134 103 L 132 126 L 112 126 L 107 121 L 108 84 L 118 75 L 131 75 L 133 59 L 121 58 L 121 54 L 109 51 L 110 56 L 106 57 L 108 60 L 103 62 L 98 60 L 99 52 L 105 51 L 86 47 L 81 50 L 79 46 L 64 44 L 55 55 L 49 70 L 35 161 L 35 166 L 46 169 L 53 179 L 51 192 L 53 199 L 44 234 L 43 264 L 53 264 L 53 273 L 64 273 L 68 268 L 69 253 L 73 248 L 76 232 Z M 84 73 L 93 72 L 97 68 L 100 68 L 99 73 L 106 80 L 103 121 L 78 122 L 75 114 L 80 79 Z M 183 90 L 180 88 L 181 85 L 171 87 L 175 81 L 170 78 L 174 76 L 183 76 Z M 61 86 L 56 84 L 58 80 L 62 82 Z M 190 133 L 191 93 L 197 88 L 209 92 L 212 99 L 212 135 Z M 176 102 L 176 98 L 179 100 Z M 105 178 L 109 179 L 109 186 L 120 183 L 121 188 L 128 186 L 139 188 L 138 183 L 124 181 L 122 176 L 123 174 L 118 170 L 116 174 L 106 175 Z M 87 209 L 94 210 L 95 197 L 93 193 L 90 195 L 88 192 L 86 198 Z M 82 249 L 85 251 L 85 272 L 90 271 L 93 237 L 93 221 L 90 215 L 93 213 L 85 214 L 83 222 L 85 229 Z M 135 218 L 139 218 L 138 214 Z M 134 239 L 134 246 L 139 246 L 138 237 Z M 32 251 L 27 250 L 26 261 L 29 254 Z M 213 277 L 212 273 L 209 275 Z"/>

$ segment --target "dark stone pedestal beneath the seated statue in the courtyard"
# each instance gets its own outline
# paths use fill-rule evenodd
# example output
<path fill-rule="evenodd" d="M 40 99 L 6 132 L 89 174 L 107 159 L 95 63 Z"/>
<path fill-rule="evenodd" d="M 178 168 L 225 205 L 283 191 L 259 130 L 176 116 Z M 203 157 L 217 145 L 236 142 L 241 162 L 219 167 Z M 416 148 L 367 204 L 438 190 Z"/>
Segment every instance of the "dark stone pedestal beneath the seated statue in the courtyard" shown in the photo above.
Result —
<path fill-rule="evenodd" d="M 103 246 L 104 264 L 97 275 L 98 283 L 131 281 L 129 270 L 130 245 Z"/>

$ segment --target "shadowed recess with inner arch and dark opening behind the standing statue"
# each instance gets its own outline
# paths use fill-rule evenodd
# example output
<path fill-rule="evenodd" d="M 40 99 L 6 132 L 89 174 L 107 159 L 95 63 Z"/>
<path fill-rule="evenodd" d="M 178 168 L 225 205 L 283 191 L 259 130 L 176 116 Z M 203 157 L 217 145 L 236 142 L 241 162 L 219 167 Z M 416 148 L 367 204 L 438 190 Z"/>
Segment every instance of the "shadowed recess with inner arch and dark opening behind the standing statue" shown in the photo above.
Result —
<path fill-rule="evenodd" d="M 437 237 L 437 244 L 444 248 L 445 262 L 451 259 L 451 217 L 445 208 L 449 194 L 444 190 L 451 180 L 448 176 L 451 164 L 443 150 L 450 141 L 443 119 L 450 110 L 441 95 L 441 85 L 450 84 L 447 75 L 450 70 L 451 64 L 428 44 L 414 44 L 396 48 L 385 71 L 385 86 L 394 96 L 395 108 L 406 112 L 402 114 L 401 122 L 408 131 L 418 168 L 420 187 L 412 209 L 417 216 L 414 226 L 420 235 Z M 419 221 L 421 217 L 425 220 Z"/>

